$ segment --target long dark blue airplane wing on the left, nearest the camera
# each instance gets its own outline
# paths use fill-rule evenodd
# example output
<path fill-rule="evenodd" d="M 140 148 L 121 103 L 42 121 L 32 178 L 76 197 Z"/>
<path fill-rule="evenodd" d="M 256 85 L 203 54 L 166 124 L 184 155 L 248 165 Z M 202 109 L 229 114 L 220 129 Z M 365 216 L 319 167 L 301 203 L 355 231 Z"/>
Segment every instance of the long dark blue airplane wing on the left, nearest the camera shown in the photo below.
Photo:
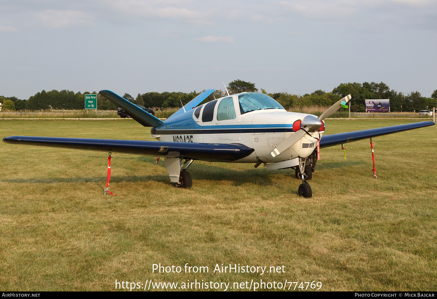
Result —
<path fill-rule="evenodd" d="M 221 144 L 35 136 L 10 136 L 3 138 L 3 142 L 222 162 L 238 160 L 253 152 L 253 148 L 248 148 L 239 143 Z"/>

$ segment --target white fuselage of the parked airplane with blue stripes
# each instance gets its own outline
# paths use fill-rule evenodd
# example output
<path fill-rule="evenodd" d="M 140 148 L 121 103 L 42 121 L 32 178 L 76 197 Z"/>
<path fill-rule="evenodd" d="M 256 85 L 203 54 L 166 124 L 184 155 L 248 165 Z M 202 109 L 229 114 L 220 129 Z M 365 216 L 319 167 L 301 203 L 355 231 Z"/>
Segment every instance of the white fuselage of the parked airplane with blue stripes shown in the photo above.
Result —
<path fill-rule="evenodd" d="M 152 137 L 160 141 L 240 143 L 255 150 L 249 156 L 233 161 L 236 163 L 281 162 L 308 157 L 316 149 L 317 140 L 324 132 L 324 124 L 321 131 L 306 134 L 291 148 L 272 157 L 270 153 L 278 144 L 301 129 L 300 124 L 295 122 L 302 121 L 310 114 L 288 112 L 284 109 L 241 113 L 242 109 L 238 109 L 238 96 L 239 94 L 225 96 L 202 105 L 200 109 L 196 107 L 176 117 L 170 117 L 163 126 L 152 128 Z M 225 113 L 219 110 L 222 109 L 223 105 L 220 103 L 223 100 L 227 101 L 226 104 L 230 106 L 231 111 L 228 107 Z M 205 116 L 204 113 L 209 114 Z"/>

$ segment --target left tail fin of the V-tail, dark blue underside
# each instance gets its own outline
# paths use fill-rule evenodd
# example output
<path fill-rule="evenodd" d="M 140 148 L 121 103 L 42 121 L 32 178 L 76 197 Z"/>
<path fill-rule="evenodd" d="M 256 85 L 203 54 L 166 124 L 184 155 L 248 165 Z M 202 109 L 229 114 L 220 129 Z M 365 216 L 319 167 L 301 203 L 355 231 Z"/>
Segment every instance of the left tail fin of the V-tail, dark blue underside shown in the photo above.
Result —
<path fill-rule="evenodd" d="M 99 93 L 121 109 L 127 111 L 134 120 L 138 121 L 144 127 L 160 127 L 164 124 L 159 118 L 154 117 L 152 114 L 142 110 L 140 107 L 132 104 L 118 94 L 113 93 L 111 90 L 101 90 Z"/>

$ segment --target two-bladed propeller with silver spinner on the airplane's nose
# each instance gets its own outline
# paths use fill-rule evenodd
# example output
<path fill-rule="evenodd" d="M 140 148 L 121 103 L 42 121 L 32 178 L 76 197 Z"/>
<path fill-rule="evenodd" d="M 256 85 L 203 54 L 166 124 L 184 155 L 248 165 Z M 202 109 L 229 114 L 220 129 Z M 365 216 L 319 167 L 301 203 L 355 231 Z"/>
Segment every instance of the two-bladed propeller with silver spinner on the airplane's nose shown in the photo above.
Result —
<path fill-rule="evenodd" d="M 309 132 L 316 132 L 317 130 L 319 130 L 320 127 L 322 127 L 322 120 L 324 120 L 335 111 L 339 110 L 340 107 L 344 107 L 347 101 L 350 100 L 350 98 L 351 96 L 347 95 L 343 99 L 340 99 L 338 102 L 329 107 L 325 112 L 323 112 L 322 115 L 320 115 L 319 117 L 315 117 L 314 115 L 305 116 L 302 120 L 301 129 L 291 134 L 290 137 L 282 141 L 282 143 L 279 144 L 270 154 L 273 157 L 276 157 L 277 155 L 291 148 L 291 146 L 301 140 L 302 137 L 305 136 L 305 134 L 308 134 Z"/>

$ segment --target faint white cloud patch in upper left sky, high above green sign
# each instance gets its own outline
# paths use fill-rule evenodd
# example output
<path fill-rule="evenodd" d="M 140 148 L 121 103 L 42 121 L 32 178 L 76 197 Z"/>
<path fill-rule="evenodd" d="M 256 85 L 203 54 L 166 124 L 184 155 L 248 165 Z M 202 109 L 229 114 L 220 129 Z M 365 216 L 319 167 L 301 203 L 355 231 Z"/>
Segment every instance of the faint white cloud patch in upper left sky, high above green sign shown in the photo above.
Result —
<path fill-rule="evenodd" d="M 93 24 L 91 16 L 77 10 L 45 10 L 36 13 L 35 18 L 53 28 Z"/>

